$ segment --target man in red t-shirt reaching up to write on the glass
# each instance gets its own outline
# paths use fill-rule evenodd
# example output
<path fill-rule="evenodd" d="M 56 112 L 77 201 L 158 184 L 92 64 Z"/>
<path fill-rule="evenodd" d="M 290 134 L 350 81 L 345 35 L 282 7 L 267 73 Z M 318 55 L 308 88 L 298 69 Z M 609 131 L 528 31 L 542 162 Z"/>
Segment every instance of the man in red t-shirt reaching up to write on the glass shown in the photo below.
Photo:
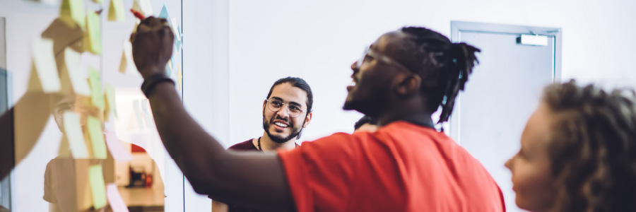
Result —
<path fill-rule="evenodd" d="M 159 67 L 173 39 L 157 18 L 131 35 L 161 139 L 195 192 L 297 211 L 505 211 L 493 178 L 431 119 L 441 106 L 440 122 L 448 120 L 479 49 L 426 28 L 386 33 L 352 64 L 355 86 L 343 107 L 377 118 L 378 131 L 334 134 L 292 151 L 238 153 L 196 124 L 165 83 Z"/>

